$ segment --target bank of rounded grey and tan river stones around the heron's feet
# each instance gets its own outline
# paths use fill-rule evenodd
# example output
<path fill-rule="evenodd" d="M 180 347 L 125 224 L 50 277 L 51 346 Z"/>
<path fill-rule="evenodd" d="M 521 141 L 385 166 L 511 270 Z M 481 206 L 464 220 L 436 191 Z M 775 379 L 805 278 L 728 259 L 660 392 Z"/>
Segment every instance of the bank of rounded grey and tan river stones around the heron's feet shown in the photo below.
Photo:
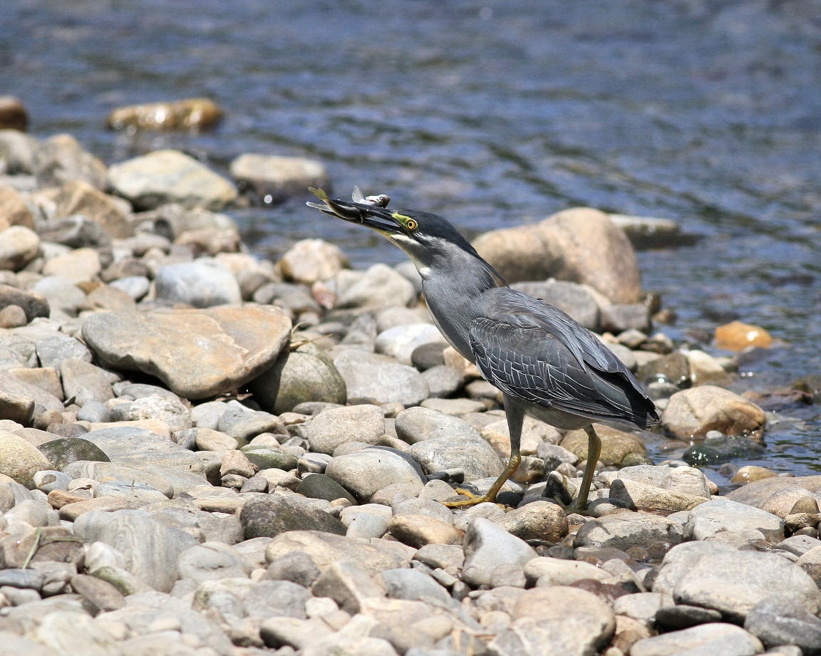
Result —
<path fill-rule="evenodd" d="M 642 290 L 633 244 L 674 226 L 569 208 L 475 240 L 663 425 L 600 427 L 568 515 L 587 438 L 526 420 L 500 504 L 452 510 L 509 456 L 498 391 L 410 263 L 246 247 L 232 208 L 328 185 L 321 163 L 230 171 L 0 131 L 0 654 L 821 654 L 821 476 L 699 470 L 764 453 L 770 415 Z"/>

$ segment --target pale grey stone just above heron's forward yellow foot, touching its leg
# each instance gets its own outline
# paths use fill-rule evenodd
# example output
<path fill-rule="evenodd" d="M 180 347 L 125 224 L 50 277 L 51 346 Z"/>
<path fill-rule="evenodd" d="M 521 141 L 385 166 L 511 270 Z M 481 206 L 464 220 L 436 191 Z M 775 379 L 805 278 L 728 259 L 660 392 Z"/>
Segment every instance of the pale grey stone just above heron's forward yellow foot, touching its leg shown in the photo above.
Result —
<path fill-rule="evenodd" d="M 471 434 L 426 439 L 410 447 L 410 455 L 427 474 L 458 468 L 466 480 L 498 476 L 504 469 L 493 447 Z"/>

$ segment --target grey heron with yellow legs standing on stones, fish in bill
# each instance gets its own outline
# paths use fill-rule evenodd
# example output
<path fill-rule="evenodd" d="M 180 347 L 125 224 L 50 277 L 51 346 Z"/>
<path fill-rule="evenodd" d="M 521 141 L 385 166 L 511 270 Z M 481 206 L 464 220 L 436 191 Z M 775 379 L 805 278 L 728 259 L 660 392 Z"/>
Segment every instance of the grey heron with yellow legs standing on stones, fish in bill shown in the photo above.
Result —
<path fill-rule="evenodd" d="M 646 429 L 659 423 L 653 400 L 630 369 L 568 314 L 507 285 L 460 232 L 437 214 L 386 204 L 332 200 L 309 188 L 314 209 L 379 232 L 415 264 L 433 323 L 447 342 L 502 392 L 511 455 L 484 494 L 448 507 L 495 502 L 521 462 L 521 430 L 531 415 L 562 430 L 584 429 L 587 463 L 576 502 L 585 513 L 601 452 L 595 423 Z M 381 196 L 387 198 L 387 196 Z"/>

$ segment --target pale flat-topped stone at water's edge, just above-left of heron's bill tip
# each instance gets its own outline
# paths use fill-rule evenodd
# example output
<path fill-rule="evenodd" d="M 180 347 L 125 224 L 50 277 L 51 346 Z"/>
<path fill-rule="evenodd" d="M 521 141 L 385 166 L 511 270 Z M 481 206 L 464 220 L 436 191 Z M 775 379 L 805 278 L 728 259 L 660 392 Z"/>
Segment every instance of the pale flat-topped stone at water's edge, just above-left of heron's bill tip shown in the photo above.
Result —
<path fill-rule="evenodd" d="M 301 157 L 242 154 L 232 161 L 231 175 L 265 203 L 305 194 L 310 186 L 328 186 L 328 173 L 322 163 Z"/>

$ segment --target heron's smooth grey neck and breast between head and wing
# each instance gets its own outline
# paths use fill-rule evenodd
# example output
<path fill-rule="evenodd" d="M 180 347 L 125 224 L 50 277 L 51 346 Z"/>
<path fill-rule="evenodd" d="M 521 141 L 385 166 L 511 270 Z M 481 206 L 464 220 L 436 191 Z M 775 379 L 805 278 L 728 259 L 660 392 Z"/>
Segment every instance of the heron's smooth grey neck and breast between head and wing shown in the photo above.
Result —
<path fill-rule="evenodd" d="M 447 261 L 447 267 L 420 268 L 425 302 L 444 337 L 456 351 L 471 362 L 470 323 L 484 314 L 481 296 L 499 287 L 484 260 L 459 253 Z"/>

